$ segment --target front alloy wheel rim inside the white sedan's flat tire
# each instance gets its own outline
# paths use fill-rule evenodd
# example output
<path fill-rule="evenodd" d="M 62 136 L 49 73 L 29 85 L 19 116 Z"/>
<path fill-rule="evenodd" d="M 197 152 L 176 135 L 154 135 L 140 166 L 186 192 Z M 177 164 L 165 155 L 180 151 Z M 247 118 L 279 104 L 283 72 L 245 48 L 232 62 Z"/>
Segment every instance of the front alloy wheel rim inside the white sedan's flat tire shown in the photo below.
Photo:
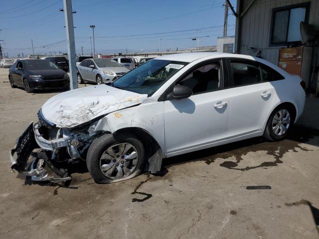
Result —
<path fill-rule="evenodd" d="M 131 175 L 138 165 L 139 155 L 130 143 L 110 146 L 100 158 L 100 169 L 110 179 L 122 179 Z"/>

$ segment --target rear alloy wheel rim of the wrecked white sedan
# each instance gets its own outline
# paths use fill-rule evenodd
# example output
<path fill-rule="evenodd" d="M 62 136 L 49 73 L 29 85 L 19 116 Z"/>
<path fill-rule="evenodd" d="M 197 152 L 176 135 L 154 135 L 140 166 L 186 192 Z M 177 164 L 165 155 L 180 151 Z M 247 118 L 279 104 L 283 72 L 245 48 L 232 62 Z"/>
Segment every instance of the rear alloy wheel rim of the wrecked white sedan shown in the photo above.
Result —
<path fill-rule="evenodd" d="M 277 136 L 285 134 L 290 126 L 290 114 L 286 109 L 279 110 L 272 121 L 273 132 Z"/>

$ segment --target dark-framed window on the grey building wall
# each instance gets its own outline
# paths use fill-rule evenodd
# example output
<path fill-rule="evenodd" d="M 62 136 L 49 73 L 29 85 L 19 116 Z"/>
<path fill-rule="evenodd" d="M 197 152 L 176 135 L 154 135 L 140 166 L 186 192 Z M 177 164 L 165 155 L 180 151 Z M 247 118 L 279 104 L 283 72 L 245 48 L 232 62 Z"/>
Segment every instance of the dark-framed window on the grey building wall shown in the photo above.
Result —
<path fill-rule="evenodd" d="M 300 22 L 308 22 L 310 2 L 274 8 L 270 34 L 271 46 L 301 41 Z"/>

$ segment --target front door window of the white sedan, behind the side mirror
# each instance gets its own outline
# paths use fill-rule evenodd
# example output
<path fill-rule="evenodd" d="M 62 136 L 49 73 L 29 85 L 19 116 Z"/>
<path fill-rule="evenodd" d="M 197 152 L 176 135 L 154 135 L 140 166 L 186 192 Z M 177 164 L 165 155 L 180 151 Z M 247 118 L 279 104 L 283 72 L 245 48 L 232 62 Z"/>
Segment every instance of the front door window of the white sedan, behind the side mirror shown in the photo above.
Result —
<path fill-rule="evenodd" d="M 193 90 L 193 94 L 221 88 L 221 63 L 216 61 L 200 66 L 177 84 L 189 87 Z"/>

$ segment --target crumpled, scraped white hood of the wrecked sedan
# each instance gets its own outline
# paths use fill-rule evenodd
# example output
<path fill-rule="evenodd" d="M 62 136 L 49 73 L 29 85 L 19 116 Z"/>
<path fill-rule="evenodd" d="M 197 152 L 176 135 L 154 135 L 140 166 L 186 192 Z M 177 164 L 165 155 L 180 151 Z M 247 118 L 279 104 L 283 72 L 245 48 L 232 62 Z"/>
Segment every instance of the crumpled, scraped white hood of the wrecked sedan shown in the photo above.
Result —
<path fill-rule="evenodd" d="M 41 108 L 57 127 L 75 127 L 99 116 L 141 104 L 148 95 L 107 85 L 83 87 L 50 98 Z"/>

